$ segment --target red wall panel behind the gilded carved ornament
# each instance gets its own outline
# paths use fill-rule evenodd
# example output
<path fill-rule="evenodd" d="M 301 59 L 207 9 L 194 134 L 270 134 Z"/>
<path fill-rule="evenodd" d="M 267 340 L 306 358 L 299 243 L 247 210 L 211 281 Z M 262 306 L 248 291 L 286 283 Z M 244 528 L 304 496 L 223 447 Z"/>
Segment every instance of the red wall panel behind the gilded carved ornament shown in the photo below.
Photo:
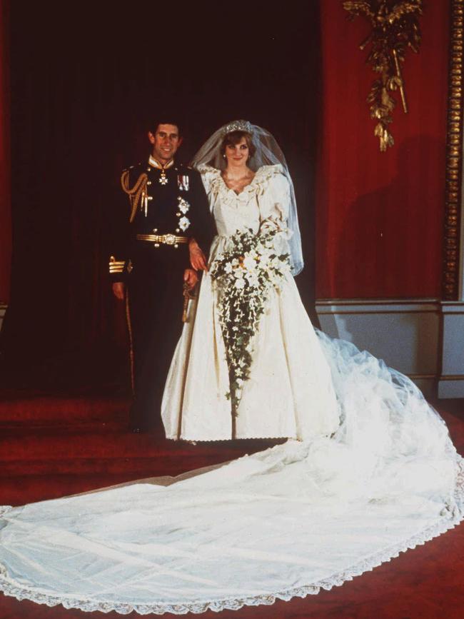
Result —
<path fill-rule="evenodd" d="M 375 74 L 359 44 L 370 25 L 321 2 L 323 110 L 316 206 L 316 296 L 440 296 L 449 3 L 425 2 L 419 54 L 403 77 L 395 146 L 380 153 L 366 96 Z"/>

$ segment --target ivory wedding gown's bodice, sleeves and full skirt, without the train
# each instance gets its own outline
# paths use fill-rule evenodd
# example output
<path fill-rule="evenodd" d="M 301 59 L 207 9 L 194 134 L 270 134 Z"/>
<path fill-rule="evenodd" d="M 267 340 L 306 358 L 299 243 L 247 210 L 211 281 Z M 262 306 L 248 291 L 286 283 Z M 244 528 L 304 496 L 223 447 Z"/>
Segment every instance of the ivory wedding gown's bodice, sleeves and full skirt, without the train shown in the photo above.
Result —
<path fill-rule="evenodd" d="M 200 166 L 216 221 L 210 263 L 230 245 L 238 230 L 254 233 L 285 227 L 290 188 L 281 166 L 261 166 L 237 195 L 221 172 Z M 279 253 L 288 253 L 283 238 Z M 297 438 L 330 435 L 338 427 L 338 403 L 331 371 L 303 308 L 290 271 L 273 291 L 253 339 L 253 365 L 243 385 L 233 436 L 226 350 L 218 318 L 218 292 L 205 273 L 198 302 L 168 373 L 162 417 L 166 438 L 218 441 L 230 438 Z"/>

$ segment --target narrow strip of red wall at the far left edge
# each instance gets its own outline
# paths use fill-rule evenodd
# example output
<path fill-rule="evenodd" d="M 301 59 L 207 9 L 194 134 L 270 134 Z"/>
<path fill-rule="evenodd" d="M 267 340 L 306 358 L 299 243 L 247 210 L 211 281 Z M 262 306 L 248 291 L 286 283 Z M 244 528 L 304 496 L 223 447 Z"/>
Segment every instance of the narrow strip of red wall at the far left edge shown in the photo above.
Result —
<path fill-rule="evenodd" d="M 0 0 L 0 302 L 10 294 L 9 1 Z"/>

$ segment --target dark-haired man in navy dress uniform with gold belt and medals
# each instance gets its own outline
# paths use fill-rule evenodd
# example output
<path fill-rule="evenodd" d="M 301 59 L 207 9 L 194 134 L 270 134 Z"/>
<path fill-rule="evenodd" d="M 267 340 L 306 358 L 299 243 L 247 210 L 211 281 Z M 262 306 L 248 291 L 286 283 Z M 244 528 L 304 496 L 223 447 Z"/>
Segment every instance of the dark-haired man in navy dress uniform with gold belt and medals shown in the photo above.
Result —
<path fill-rule="evenodd" d="M 198 271 L 206 270 L 214 233 L 199 173 L 175 159 L 179 126 L 164 120 L 148 132 L 148 161 L 123 171 L 124 206 L 113 213 L 109 271 L 114 295 L 126 300 L 133 432 L 161 424 L 164 383 L 182 328 L 183 283 L 193 288 Z"/>

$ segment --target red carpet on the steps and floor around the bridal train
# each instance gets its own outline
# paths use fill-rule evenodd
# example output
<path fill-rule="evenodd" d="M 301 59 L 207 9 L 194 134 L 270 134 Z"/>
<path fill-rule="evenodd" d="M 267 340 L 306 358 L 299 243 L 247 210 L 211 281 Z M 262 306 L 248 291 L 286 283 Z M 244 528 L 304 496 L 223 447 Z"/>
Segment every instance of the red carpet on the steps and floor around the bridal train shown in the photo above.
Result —
<path fill-rule="evenodd" d="M 178 475 L 237 458 L 266 441 L 172 443 L 126 432 L 122 398 L 51 398 L 0 394 L 0 505 L 21 505 L 128 480 Z M 441 401 L 440 413 L 464 453 L 464 402 Z M 0 595 L 0 619 L 120 617 L 19 602 Z M 136 617 L 133 613 L 131 616 Z M 178 615 L 164 615 L 178 616 Z M 193 616 L 193 615 L 191 615 Z M 223 619 L 458 619 L 464 616 L 464 525 L 400 555 L 341 588 L 272 606 L 208 612 Z"/>

